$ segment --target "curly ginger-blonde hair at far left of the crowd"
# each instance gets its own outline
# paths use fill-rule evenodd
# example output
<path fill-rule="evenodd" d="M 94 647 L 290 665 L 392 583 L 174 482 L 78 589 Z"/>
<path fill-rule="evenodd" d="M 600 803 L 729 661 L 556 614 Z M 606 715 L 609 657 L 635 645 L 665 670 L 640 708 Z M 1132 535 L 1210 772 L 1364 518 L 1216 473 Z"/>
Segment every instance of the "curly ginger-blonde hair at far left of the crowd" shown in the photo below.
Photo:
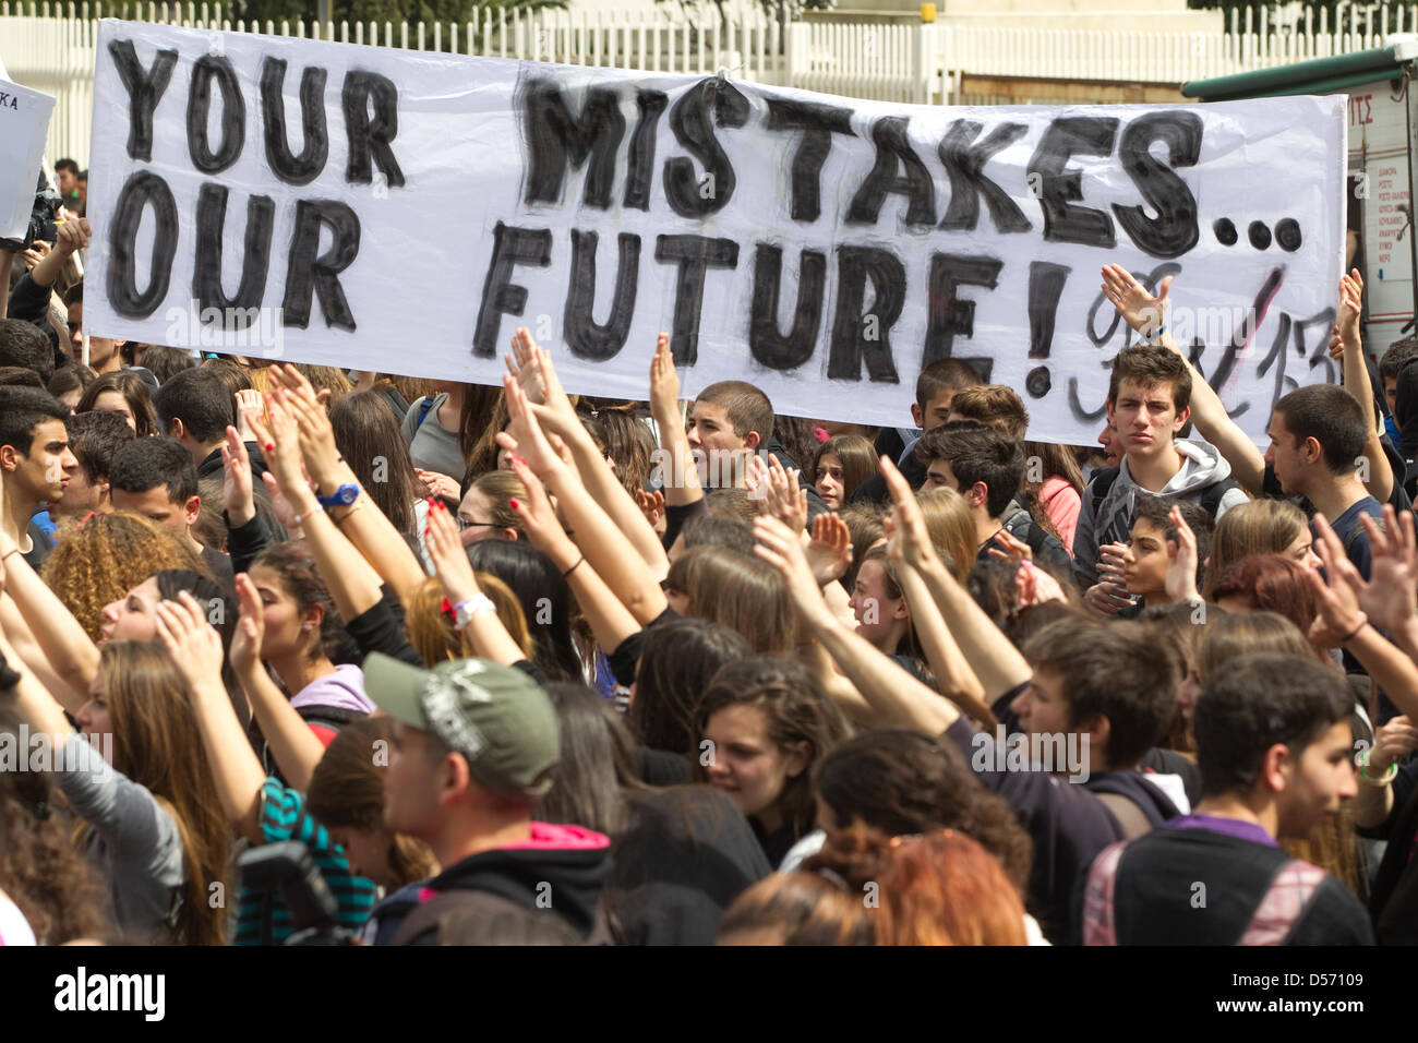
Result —
<path fill-rule="evenodd" d="M 170 529 L 129 511 L 94 514 L 61 539 L 40 575 L 91 640 L 99 640 L 104 606 L 163 569 L 214 579 L 211 569 Z"/>

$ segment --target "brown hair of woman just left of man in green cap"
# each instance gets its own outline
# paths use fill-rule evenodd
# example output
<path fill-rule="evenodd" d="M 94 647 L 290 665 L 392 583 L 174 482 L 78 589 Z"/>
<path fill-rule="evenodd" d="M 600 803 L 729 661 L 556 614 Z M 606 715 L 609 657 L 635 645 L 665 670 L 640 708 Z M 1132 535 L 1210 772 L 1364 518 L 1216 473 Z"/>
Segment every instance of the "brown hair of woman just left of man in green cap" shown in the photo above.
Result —
<path fill-rule="evenodd" d="M 384 775 L 379 771 L 379 755 L 381 751 L 387 754 L 393 739 L 391 717 L 362 717 L 340 728 L 311 773 L 305 805 L 311 817 L 335 829 L 370 833 L 381 829 Z M 438 860 L 424 841 L 394 833 L 389 847 L 389 868 L 403 887 L 437 873 Z"/>

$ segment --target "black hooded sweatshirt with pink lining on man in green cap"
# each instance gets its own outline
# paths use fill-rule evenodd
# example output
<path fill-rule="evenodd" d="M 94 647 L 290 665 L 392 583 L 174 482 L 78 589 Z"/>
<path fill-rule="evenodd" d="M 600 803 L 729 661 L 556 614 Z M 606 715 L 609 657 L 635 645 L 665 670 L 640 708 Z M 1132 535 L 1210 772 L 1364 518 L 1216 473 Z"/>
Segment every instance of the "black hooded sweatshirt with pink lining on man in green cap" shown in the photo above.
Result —
<path fill-rule="evenodd" d="M 394 928 L 394 945 L 438 945 L 438 917 L 447 910 L 519 905 L 549 910 L 588 938 L 597 927 L 601 888 L 611 873 L 611 841 L 583 826 L 530 823 L 532 836 L 516 844 L 472 854 L 454 863 L 417 893 Z M 481 910 L 479 910 L 481 911 Z M 381 911 L 380 934 L 393 925 L 394 910 Z M 418 920 L 414 920 L 418 917 Z"/>

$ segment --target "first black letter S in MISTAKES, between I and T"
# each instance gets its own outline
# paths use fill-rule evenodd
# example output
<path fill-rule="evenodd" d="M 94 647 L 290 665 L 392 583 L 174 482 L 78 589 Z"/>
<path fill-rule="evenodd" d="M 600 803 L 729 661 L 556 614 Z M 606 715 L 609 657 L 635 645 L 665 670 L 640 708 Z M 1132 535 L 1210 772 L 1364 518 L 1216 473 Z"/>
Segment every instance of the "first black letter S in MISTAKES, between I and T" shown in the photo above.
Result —
<path fill-rule="evenodd" d="M 705 169 L 700 179 L 693 162 L 683 156 L 665 162 L 665 199 L 676 214 L 705 217 L 727 206 L 737 179 L 713 128 L 737 128 L 747 122 L 749 99 L 733 84 L 718 78 L 700 79 L 669 109 L 675 140 Z"/>

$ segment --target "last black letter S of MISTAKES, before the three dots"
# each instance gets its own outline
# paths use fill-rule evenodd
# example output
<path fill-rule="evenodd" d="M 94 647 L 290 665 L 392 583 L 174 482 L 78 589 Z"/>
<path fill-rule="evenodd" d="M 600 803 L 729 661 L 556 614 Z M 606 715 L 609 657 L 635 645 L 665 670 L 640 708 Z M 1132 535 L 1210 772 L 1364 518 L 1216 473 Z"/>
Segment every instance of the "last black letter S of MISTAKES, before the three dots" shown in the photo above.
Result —
<path fill-rule="evenodd" d="M 1151 155 L 1153 142 L 1167 146 L 1170 165 Z M 1174 167 L 1195 166 L 1201 158 L 1201 116 L 1168 109 L 1134 119 L 1123 131 L 1117 158 L 1143 200 L 1157 211 L 1157 217 L 1149 217 L 1140 206 L 1113 204 L 1117 223 L 1137 248 L 1153 257 L 1181 257 L 1197 245 L 1197 197 Z"/>

